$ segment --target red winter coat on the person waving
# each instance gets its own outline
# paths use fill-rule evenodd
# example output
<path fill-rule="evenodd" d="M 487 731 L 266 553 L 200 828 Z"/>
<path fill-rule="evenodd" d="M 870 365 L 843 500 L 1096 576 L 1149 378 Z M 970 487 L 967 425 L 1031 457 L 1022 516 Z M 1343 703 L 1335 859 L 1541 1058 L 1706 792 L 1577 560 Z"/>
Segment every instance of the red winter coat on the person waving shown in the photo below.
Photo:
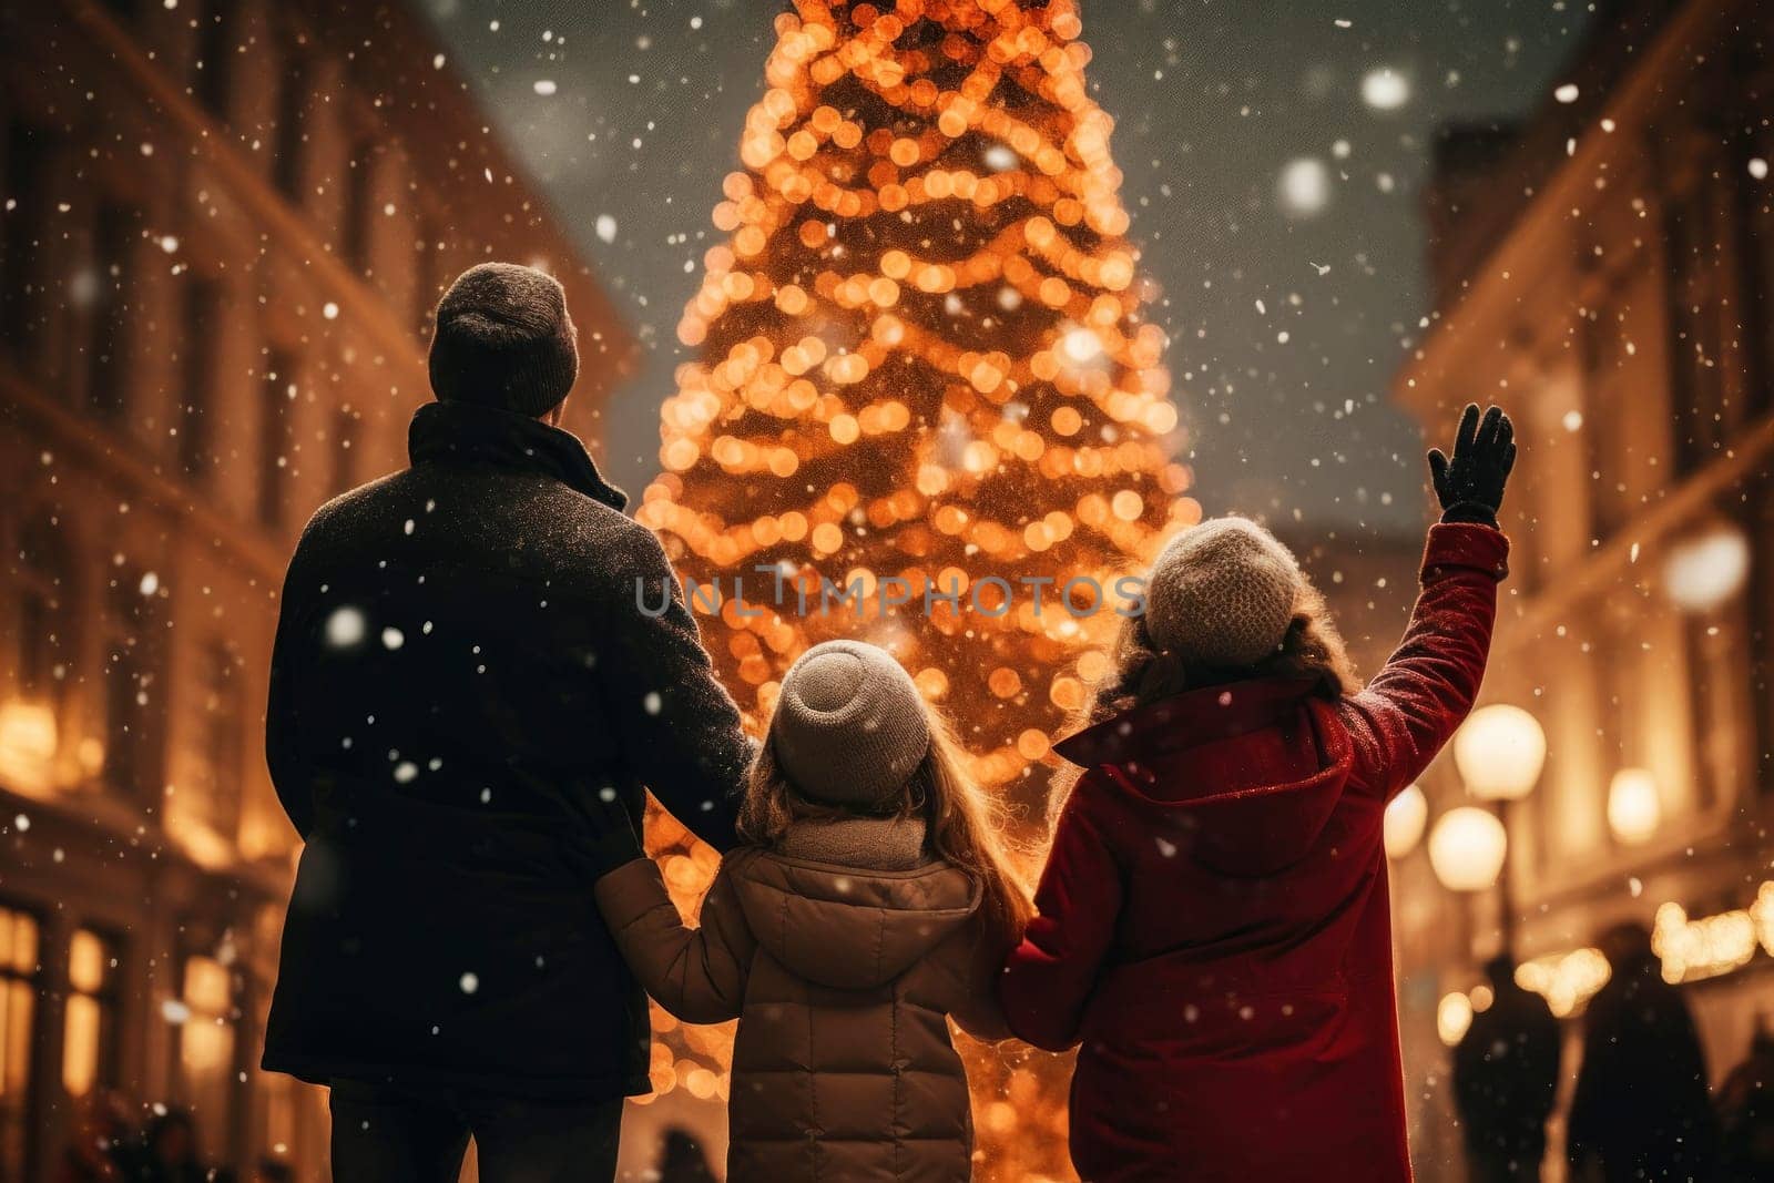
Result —
<path fill-rule="evenodd" d="M 1080 1043 L 1089 1183 L 1410 1179 L 1380 819 L 1478 693 L 1508 539 L 1437 525 L 1361 693 L 1245 681 L 1059 745 L 1086 768 L 1001 1000 Z"/>

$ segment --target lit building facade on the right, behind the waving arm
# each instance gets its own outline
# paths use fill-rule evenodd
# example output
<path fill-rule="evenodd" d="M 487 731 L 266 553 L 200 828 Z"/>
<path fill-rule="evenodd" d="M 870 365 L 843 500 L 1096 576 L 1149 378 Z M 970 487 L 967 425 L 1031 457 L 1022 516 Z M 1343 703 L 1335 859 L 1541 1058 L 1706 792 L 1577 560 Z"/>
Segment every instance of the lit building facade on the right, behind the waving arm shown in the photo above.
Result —
<path fill-rule="evenodd" d="M 1714 1084 L 1774 1016 L 1770 39 L 1747 0 L 1600 4 L 1543 110 L 1440 145 L 1439 312 L 1394 397 L 1432 435 L 1467 401 L 1515 417 L 1483 701 L 1547 759 L 1462 924 L 1421 846 L 1394 867 L 1425 1178 L 1456 1158 L 1437 1011 L 1499 947 L 1575 1020 L 1597 935 L 1652 928 Z M 1467 803 L 1453 759 L 1425 789 L 1430 827 Z"/>

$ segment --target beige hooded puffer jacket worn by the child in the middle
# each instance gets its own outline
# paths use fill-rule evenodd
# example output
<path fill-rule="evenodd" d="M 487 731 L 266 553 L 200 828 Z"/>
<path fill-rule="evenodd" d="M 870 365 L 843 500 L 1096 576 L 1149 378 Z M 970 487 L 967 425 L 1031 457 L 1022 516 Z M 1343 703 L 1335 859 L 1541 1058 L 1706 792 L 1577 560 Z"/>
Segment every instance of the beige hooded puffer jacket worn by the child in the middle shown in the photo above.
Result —
<path fill-rule="evenodd" d="M 598 883 L 660 1006 L 690 1023 L 740 1020 L 729 1183 L 970 1176 L 947 1016 L 977 1038 L 1009 1034 L 992 990 L 1006 949 L 983 938 L 979 889 L 921 848 L 915 821 L 797 825 L 782 851 L 727 855 L 697 929 L 651 860 Z"/>

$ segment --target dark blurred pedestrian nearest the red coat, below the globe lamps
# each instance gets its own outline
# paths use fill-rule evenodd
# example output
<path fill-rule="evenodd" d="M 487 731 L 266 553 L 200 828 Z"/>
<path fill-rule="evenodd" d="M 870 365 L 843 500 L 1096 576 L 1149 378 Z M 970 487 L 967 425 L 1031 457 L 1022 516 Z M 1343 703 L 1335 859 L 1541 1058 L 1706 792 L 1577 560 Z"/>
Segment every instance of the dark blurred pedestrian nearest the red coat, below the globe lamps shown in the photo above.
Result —
<path fill-rule="evenodd" d="M 1508 954 L 1485 967 L 1492 1002 L 1453 1052 L 1453 1093 L 1472 1183 L 1538 1179 L 1558 1094 L 1559 1027 L 1547 1000 L 1515 984 Z"/>

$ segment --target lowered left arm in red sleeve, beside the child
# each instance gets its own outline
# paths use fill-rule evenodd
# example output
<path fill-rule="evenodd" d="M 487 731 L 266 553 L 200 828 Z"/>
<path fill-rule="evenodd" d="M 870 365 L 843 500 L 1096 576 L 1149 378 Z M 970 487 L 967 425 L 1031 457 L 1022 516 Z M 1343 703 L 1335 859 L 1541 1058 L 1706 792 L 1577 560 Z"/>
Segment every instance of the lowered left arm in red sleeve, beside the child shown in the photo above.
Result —
<path fill-rule="evenodd" d="M 1121 913 L 1121 866 L 1089 816 L 1089 784 L 1073 789 L 1034 892 L 1036 917 L 1004 963 L 999 1002 L 1017 1038 L 1048 1052 L 1079 1041 L 1084 1004 Z"/>

